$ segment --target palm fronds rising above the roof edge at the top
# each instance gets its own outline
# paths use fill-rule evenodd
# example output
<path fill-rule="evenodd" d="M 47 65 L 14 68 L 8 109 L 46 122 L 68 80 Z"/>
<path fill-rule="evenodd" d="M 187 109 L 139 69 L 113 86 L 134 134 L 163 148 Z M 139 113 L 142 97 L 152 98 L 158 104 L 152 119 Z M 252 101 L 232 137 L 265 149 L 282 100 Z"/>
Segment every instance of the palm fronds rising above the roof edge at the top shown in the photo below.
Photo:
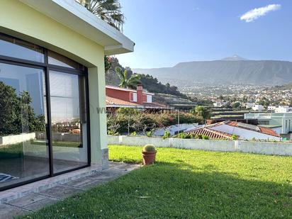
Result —
<path fill-rule="evenodd" d="M 75 0 L 117 30 L 123 30 L 125 16 L 118 0 Z"/>

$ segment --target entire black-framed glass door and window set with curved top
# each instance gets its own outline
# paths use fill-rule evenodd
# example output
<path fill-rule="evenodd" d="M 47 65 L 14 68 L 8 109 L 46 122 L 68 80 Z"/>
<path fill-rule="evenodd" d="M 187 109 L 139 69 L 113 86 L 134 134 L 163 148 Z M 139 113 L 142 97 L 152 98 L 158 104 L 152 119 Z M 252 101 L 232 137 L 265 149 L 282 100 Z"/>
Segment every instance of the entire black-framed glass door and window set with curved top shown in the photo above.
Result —
<path fill-rule="evenodd" d="M 0 191 L 89 166 L 86 68 L 0 33 Z"/>

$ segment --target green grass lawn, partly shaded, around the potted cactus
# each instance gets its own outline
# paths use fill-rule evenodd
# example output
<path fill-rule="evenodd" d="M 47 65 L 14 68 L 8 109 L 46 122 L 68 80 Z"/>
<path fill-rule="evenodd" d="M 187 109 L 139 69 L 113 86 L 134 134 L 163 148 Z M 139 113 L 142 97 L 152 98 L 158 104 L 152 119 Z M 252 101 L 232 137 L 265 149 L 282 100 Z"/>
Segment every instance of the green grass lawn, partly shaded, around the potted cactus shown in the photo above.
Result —
<path fill-rule="evenodd" d="M 110 146 L 114 161 L 141 147 Z M 157 149 L 157 163 L 30 218 L 292 218 L 292 157 Z"/>

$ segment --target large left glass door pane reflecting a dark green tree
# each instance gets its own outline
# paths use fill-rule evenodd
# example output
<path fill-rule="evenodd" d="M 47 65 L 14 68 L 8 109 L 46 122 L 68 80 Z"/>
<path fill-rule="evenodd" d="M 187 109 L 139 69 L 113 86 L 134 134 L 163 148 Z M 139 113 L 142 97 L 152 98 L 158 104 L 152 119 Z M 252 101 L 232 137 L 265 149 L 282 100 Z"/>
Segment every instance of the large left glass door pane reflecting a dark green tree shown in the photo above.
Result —
<path fill-rule="evenodd" d="M 0 63 L 0 188 L 49 174 L 44 72 Z"/>

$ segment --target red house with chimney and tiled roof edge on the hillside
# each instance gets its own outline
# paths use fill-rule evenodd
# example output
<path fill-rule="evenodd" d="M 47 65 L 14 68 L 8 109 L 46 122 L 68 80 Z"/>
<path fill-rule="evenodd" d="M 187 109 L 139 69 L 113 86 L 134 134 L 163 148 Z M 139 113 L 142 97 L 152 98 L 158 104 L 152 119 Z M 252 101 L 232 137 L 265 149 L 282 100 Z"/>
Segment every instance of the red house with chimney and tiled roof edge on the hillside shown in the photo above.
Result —
<path fill-rule="evenodd" d="M 139 108 L 151 111 L 172 109 L 165 104 L 153 102 L 154 95 L 144 91 L 141 84 L 137 85 L 136 90 L 106 85 L 106 108 L 111 110 L 117 108 Z"/>

